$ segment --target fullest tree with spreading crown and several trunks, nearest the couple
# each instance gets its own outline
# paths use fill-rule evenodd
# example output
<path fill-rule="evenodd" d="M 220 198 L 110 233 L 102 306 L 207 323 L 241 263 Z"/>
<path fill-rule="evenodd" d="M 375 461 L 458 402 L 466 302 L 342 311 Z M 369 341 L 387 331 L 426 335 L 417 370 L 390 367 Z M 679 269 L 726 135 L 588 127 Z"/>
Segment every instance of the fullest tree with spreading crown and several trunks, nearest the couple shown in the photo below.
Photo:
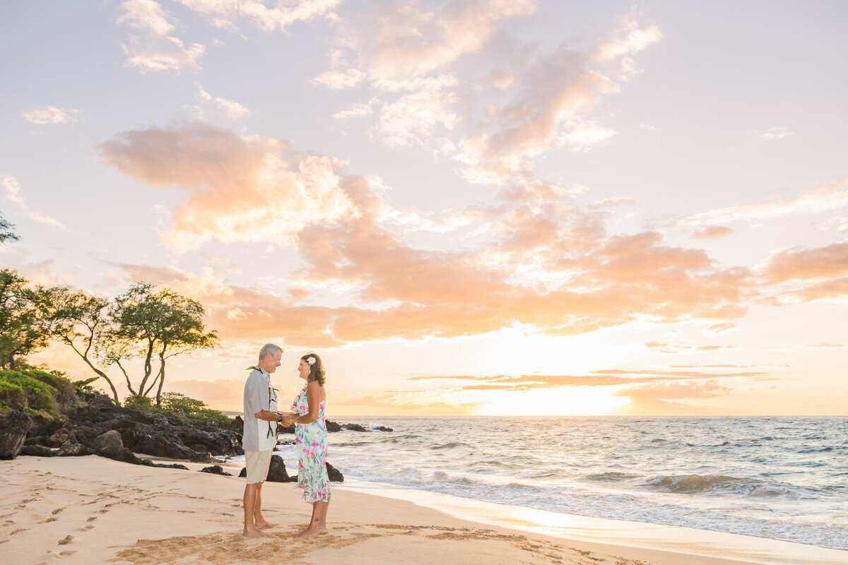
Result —
<path fill-rule="evenodd" d="M 103 358 L 120 368 L 131 395 L 148 396 L 159 385 L 157 405 L 162 399 L 167 360 L 219 343 L 217 333 L 206 330 L 200 302 L 168 289 L 154 292 L 151 285 L 132 285 L 114 299 L 109 313 L 111 327 L 104 335 Z M 133 357 L 143 359 L 142 378 L 137 386 L 132 384 L 125 367 L 126 360 Z M 159 368 L 153 376 L 156 364 Z"/>

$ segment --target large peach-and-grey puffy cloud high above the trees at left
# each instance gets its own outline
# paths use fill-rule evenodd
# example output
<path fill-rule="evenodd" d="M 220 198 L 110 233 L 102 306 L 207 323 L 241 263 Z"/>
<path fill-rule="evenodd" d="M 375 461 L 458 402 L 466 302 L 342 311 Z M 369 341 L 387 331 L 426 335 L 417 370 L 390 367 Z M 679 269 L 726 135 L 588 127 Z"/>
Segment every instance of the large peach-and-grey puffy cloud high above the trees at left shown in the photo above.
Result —
<path fill-rule="evenodd" d="M 100 146 L 106 163 L 152 186 L 188 194 L 163 240 L 176 252 L 205 241 L 293 241 L 309 224 L 354 219 L 338 159 L 293 152 L 271 137 L 188 123 L 131 130 Z"/>

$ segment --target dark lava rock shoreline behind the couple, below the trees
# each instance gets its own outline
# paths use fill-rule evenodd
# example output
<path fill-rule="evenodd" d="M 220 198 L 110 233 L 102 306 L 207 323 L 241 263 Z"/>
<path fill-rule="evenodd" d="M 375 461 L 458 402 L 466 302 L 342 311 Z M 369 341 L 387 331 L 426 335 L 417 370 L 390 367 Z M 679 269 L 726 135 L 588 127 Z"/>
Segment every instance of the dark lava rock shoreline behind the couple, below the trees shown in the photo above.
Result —
<path fill-rule="evenodd" d="M 77 402 L 66 407 L 55 418 L 30 416 L 19 411 L 0 414 L 0 459 L 19 455 L 38 457 L 72 457 L 97 454 L 125 463 L 150 467 L 183 468 L 179 463 L 153 463 L 137 453 L 153 457 L 185 460 L 192 463 L 220 463 L 222 457 L 243 455 L 243 420 L 217 424 L 177 418 L 159 413 L 120 407 L 98 393 L 76 391 Z M 390 432 L 379 426 L 366 429 L 360 424 L 338 424 L 327 421 L 327 431 L 343 429 L 356 432 L 374 430 Z M 280 429 L 293 434 L 294 427 Z M 220 465 L 203 469 L 206 473 L 228 474 Z M 338 469 L 327 463 L 330 479 L 343 481 Z M 274 456 L 268 480 L 294 480 L 289 477 L 282 457 Z"/>

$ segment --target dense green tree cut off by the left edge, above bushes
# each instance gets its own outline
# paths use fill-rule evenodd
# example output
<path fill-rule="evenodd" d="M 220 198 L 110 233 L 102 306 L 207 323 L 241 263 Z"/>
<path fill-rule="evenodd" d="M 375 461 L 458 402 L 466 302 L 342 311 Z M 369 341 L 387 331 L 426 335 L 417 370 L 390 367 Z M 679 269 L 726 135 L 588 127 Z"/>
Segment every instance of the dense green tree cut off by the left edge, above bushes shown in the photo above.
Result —
<path fill-rule="evenodd" d="M 40 352 L 49 343 L 50 291 L 31 287 L 12 269 L 0 269 L 0 368 L 14 369 L 15 357 Z"/>

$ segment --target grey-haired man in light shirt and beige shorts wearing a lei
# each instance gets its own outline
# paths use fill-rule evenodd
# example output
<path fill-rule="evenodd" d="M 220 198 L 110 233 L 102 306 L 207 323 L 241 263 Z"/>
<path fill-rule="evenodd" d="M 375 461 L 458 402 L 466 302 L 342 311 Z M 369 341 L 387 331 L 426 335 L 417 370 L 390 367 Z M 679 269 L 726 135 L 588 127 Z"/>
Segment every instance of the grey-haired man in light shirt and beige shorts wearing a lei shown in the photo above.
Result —
<path fill-rule="evenodd" d="M 244 383 L 244 466 L 248 484 L 244 487 L 244 535 L 260 537 L 264 528 L 276 524 L 262 515 L 262 484 L 268 476 L 271 452 L 276 446 L 276 424 L 282 415 L 276 412 L 276 391 L 271 386 L 271 373 L 280 366 L 282 348 L 273 343 L 259 350 L 259 363 Z"/>

